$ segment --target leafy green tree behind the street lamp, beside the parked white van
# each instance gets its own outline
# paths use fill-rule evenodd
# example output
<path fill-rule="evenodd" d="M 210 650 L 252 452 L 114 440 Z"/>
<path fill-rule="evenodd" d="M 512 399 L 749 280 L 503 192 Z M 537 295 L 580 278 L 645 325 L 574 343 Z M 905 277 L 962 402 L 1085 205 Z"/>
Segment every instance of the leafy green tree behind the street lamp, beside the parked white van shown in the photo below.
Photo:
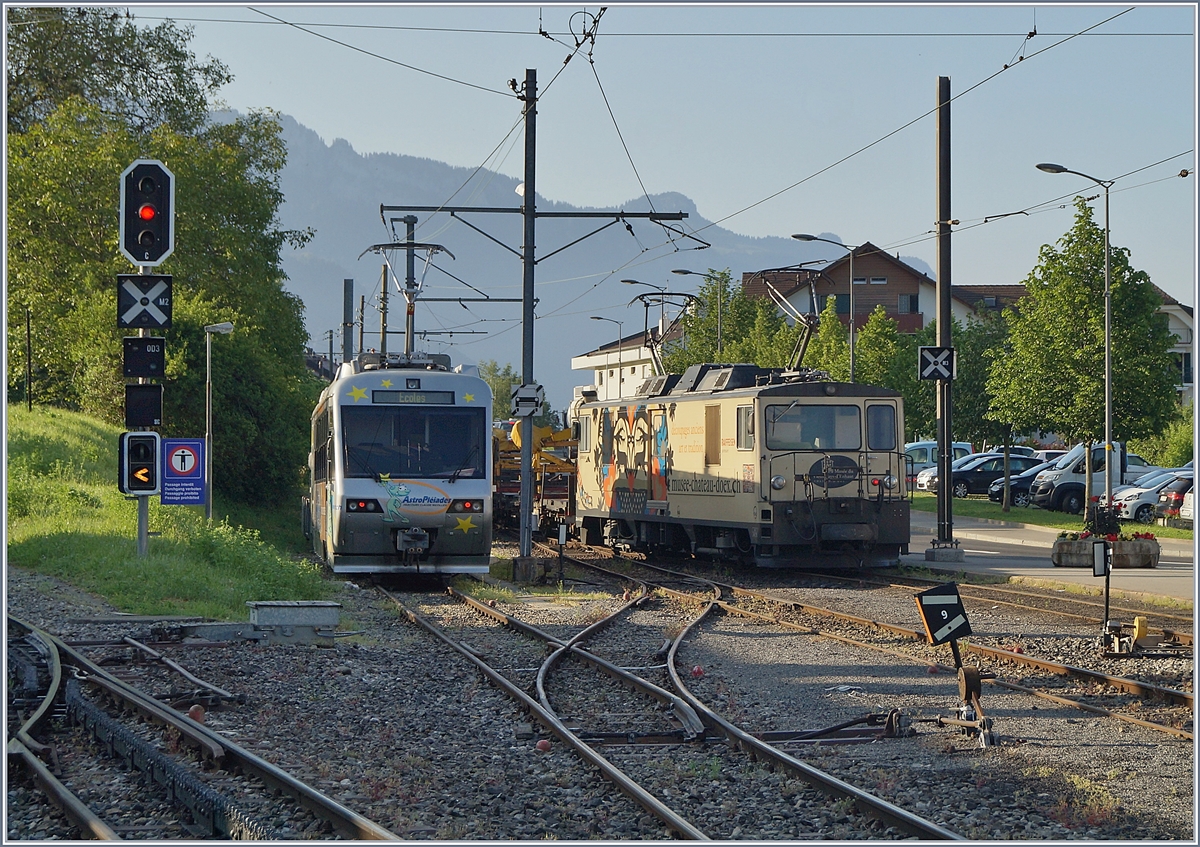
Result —
<path fill-rule="evenodd" d="M 1177 414 L 1166 318 L 1129 251 L 1110 252 L 1112 296 L 1112 437 L 1146 438 Z M 1018 431 L 1055 432 L 1068 443 L 1104 437 L 1104 230 L 1084 198 L 1057 246 L 1044 245 L 1025 282 L 1027 296 L 1007 311 L 1010 353 L 990 366 L 992 416 Z"/>

